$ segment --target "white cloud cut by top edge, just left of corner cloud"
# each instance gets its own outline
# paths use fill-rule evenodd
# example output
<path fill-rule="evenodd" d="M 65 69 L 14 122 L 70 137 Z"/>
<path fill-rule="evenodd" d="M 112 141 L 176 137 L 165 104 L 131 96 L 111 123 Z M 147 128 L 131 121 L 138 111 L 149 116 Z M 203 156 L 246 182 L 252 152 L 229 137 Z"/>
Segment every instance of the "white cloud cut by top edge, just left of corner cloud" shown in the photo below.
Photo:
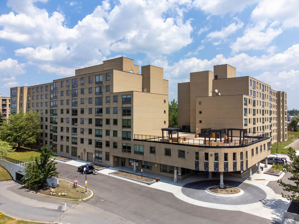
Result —
<path fill-rule="evenodd" d="M 235 14 L 242 12 L 246 6 L 253 5 L 258 0 L 195 0 L 193 6 L 212 15 Z"/>

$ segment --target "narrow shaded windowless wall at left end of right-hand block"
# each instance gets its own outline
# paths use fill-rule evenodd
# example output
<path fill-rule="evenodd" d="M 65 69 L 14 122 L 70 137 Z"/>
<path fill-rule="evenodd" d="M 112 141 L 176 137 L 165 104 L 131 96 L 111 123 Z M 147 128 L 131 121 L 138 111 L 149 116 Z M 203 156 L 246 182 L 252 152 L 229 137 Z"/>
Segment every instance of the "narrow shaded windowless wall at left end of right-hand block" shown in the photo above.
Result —
<path fill-rule="evenodd" d="M 178 127 L 190 125 L 190 82 L 178 83 Z"/>

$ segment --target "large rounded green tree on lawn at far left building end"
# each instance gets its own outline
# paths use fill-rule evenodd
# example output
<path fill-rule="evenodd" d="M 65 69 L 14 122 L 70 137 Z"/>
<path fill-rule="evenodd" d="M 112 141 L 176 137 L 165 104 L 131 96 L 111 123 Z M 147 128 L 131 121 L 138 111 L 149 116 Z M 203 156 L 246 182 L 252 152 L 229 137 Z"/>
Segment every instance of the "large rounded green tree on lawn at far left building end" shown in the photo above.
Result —
<path fill-rule="evenodd" d="M 39 141 L 40 115 L 37 111 L 10 115 L 0 127 L 0 140 L 9 142 L 17 147 L 23 144 L 34 144 Z"/>

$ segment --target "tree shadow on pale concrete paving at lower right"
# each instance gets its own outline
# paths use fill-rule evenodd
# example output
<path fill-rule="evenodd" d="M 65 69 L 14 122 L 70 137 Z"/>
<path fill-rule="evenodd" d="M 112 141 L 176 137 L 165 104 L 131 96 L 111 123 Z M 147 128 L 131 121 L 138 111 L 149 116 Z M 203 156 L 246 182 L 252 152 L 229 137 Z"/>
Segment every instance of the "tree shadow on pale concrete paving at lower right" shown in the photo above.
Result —
<path fill-rule="evenodd" d="M 287 211 L 291 201 L 283 201 L 282 199 L 263 199 L 261 203 L 266 208 L 271 208 L 271 214 L 277 217 L 284 218 L 284 212 Z"/>

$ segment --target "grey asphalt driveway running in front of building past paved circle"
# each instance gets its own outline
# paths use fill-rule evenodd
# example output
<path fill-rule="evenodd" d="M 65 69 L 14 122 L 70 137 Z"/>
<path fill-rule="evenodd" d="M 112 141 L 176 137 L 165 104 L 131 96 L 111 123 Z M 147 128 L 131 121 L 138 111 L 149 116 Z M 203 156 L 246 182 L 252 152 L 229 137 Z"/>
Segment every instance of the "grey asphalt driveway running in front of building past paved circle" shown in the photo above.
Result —
<path fill-rule="evenodd" d="M 85 175 L 80 175 L 75 166 L 58 163 L 56 167 L 59 179 L 78 180 L 78 185 L 84 185 Z M 278 223 L 244 212 L 195 206 L 171 193 L 100 173 L 87 175 L 87 181 L 88 189 L 94 192 L 94 197 L 85 202 L 88 207 L 100 208 L 134 223 Z M 82 210 L 78 212 L 84 217 Z M 94 216 L 96 220 L 96 211 Z"/>

